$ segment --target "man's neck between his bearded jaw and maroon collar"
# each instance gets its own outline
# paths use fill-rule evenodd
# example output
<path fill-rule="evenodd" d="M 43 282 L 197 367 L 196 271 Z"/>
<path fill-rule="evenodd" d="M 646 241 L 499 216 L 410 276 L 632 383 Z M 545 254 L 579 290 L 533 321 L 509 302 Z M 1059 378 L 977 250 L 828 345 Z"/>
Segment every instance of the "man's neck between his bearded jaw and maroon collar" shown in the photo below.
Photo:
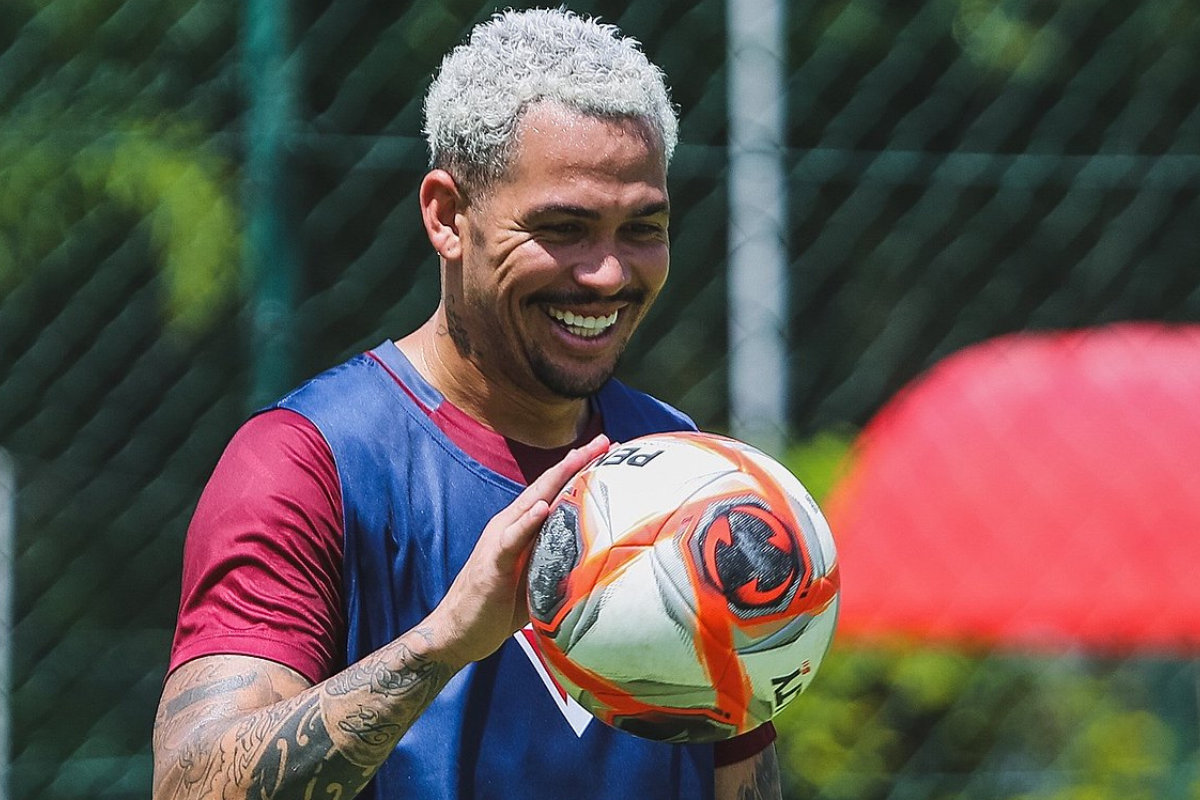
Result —
<path fill-rule="evenodd" d="M 438 314 L 396 345 L 443 397 L 500 435 L 535 447 L 558 447 L 575 441 L 587 425 L 586 399 L 550 392 L 535 397 L 488 377 L 458 351 Z"/>

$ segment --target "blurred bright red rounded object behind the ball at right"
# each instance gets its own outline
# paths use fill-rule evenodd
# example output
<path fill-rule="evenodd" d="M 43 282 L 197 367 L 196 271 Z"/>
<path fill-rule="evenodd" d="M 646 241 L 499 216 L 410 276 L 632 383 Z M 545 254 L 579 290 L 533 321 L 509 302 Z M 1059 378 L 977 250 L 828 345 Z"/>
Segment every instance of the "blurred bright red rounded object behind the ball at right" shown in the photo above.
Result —
<path fill-rule="evenodd" d="M 826 503 L 839 636 L 1200 646 L 1200 325 L 974 345 L 864 428 Z"/>

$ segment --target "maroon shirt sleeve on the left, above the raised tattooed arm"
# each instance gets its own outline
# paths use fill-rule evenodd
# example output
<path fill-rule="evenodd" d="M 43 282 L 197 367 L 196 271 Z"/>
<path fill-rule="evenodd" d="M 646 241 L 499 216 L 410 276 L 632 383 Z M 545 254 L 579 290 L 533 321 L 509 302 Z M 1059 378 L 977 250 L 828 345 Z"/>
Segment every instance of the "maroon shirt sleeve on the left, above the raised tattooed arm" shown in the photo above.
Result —
<path fill-rule="evenodd" d="M 229 441 L 184 545 L 169 669 L 206 655 L 269 658 L 312 682 L 343 658 L 342 500 L 305 417 L 259 414 Z"/>

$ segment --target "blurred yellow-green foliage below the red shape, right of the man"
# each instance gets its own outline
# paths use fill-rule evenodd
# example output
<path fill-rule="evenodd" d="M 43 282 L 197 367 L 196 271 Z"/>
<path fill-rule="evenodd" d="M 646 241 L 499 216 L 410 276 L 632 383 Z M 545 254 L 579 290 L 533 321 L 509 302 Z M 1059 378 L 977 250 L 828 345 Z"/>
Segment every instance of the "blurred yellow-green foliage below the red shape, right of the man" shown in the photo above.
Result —
<path fill-rule="evenodd" d="M 776 720 L 787 796 L 1184 796 L 1153 687 L 1138 661 L 838 643 Z"/>

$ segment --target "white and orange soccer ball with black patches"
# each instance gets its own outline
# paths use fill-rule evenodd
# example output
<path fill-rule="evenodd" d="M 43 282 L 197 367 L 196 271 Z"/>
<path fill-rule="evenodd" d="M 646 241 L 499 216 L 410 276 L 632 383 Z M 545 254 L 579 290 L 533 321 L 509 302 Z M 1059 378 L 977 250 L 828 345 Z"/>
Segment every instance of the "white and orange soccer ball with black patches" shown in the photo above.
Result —
<path fill-rule="evenodd" d="M 529 618 L 551 673 L 604 722 L 716 741 L 809 685 L 839 585 L 829 525 L 787 469 L 734 439 L 660 433 L 611 449 L 551 504 Z"/>

